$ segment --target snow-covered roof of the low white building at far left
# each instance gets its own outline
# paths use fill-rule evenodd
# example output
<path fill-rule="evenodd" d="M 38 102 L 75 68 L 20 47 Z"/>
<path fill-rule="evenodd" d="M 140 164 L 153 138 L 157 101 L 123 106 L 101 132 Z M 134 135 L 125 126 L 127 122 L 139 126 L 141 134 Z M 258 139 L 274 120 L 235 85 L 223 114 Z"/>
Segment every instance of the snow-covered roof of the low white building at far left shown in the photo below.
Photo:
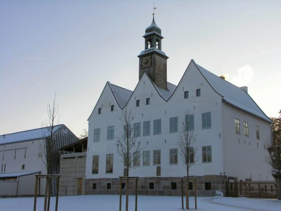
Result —
<path fill-rule="evenodd" d="M 60 128 L 60 126 L 63 125 L 55 126 L 54 131 Z M 44 138 L 48 135 L 48 128 L 50 127 L 0 135 L 0 144 Z"/>

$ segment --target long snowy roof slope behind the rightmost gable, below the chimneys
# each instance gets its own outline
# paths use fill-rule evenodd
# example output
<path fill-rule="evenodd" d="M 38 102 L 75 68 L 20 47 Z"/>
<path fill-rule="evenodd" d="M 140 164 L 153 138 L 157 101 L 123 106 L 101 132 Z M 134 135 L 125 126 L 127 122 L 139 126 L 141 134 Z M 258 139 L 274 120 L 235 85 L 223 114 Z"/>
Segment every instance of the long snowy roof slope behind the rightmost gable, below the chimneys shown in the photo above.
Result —
<path fill-rule="evenodd" d="M 255 116 L 258 116 L 267 122 L 271 122 L 270 118 L 265 115 L 255 101 L 243 89 L 214 75 L 196 63 L 195 65 L 198 67 L 199 71 L 203 74 L 213 89 L 218 94 L 223 96 L 224 102 L 254 114 Z"/>

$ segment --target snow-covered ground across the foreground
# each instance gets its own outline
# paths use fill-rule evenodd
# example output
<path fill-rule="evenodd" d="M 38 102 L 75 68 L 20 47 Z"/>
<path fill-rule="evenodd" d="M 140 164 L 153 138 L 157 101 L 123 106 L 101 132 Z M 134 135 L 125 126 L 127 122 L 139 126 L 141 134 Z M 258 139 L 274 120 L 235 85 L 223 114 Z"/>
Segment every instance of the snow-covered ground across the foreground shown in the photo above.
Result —
<path fill-rule="evenodd" d="M 122 196 L 122 210 L 124 210 L 125 196 Z M 129 198 L 129 210 L 135 210 L 135 197 Z M 185 200 L 184 200 L 185 201 Z M 0 198 L 1 211 L 30 211 L 33 210 L 33 197 L 26 198 Z M 37 200 L 37 210 L 42 210 L 44 198 Z M 55 197 L 51 199 L 51 209 L 54 210 Z M 194 197 L 190 197 L 190 207 L 195 209 Z M 270 199 L 228 198 L 228 197 L 198 197 L 198 210 L 214 211 L 280 211 L 281 202 Z M 59 211 L 118 211 L 118 195 L 87 195 L 87 196 L 61 196 L 58 201 Z M 181 210 L 181 198 L 177 196 L 138 196 L 139 211 L 178 211 Z"/>

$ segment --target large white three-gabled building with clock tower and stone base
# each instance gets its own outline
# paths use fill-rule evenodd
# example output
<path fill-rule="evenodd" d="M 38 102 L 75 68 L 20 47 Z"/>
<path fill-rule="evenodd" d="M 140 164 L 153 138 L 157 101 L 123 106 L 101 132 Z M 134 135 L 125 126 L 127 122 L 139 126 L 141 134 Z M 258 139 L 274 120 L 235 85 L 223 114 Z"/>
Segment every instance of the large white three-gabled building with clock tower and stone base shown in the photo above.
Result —
<path fill-rule="evenodd" d="M 135 90 L 107 82 L 88 118 L 86 194 L 118 193 L 116 178 L 123 176 L 124 164 L 117 153 L 116 140 L 123 133 L 119 118 L 125 107 L 133 113 L 133 124 L 140 131 L 139 165 L 130 170 L 130 176 L 141 177 L 140 194 L 180 194 L 178 177 L 186 176 L 186 169 L 178 140 L 181 123 L 187 118 L 196 134 L 198 161 L 190 175 L 202 179 L 199 194 L 225 191 L 226 176 L 272 179 L 264 148 L 271 120 L 248 95 L 247 88 L 212 74 L 194 60 L 178 85 L 173 85 L 167 82 L 168 57 L 162 51 L 163 37 L 154 18 L 143 37 L 145 50 L 139 55 Z"/>

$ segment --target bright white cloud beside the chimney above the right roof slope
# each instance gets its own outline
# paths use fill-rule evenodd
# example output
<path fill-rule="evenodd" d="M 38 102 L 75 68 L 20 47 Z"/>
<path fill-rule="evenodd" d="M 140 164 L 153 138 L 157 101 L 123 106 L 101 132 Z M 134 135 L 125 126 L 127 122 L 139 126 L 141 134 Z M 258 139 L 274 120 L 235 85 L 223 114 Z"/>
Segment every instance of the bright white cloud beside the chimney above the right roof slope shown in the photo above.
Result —
<path fill-rule="evenodd" d="M 247 86 L 252 82 L 255 75 L 254 70 L 249 65 L 244 65 L 240 68 L 237 68 L 238 75 L 235 75 L 231 78 L 230 82 L 236 86 Z"/>

